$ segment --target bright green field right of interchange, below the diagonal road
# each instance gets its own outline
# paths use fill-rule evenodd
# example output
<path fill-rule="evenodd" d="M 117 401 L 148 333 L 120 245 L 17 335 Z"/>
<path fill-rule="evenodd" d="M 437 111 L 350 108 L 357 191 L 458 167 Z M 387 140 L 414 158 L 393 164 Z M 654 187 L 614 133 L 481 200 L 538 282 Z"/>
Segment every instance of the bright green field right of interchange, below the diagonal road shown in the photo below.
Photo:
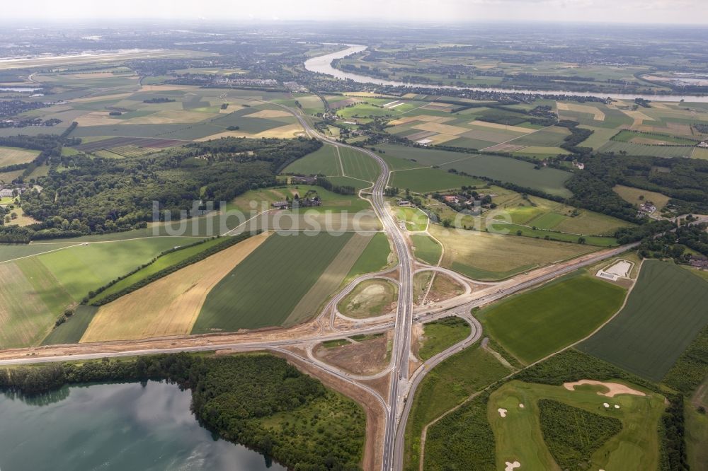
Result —
<path fill-rule="evenodd" d="M 582 272 L 480 313 L 491 337 L 525 364 L 589 335 L 622 306 L 625 290 Z"/>

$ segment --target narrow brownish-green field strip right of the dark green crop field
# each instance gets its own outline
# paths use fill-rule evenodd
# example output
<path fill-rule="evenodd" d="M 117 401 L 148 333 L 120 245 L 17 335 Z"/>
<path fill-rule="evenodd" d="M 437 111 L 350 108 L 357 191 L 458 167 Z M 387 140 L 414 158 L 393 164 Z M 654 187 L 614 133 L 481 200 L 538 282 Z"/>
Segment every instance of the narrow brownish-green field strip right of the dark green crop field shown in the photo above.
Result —
<path fill-rule="evenodd" d="M 319 308 L 329 296 L 336 293 L 337 287 L 344 281 L 354 263 L 359 259 L 370 237 L 354 234 L 332 260 L 312 288 L 297 303 L 292 313 L 287 316 L 284 327 L 299 324 L 319 314 Z"/>

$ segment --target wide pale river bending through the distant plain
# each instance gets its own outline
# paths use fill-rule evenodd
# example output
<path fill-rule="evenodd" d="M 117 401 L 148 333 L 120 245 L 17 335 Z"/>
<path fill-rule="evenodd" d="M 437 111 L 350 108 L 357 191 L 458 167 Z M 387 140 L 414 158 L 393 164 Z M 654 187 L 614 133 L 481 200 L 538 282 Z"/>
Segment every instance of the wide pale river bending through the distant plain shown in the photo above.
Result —
<path fill-rule="evenodd" d="M 351 54 L 356 54 L 357 52 L 362 52 L 367 48 L 367 46 L 348 44 L 346 49 L 341 51 L 332 52 L 331 54 L 325 54 L 324 56 L 313 57 L 305 62 L 305 69 L 311 72 L 319 72 L 321 74 L 327 74 L 336 77 L 337 79 L 350 79 L 358 83 L 375 83 L 376 85 L 392 85 L 392 86 L 406 86 L 406 87 L 422 87 L 422 88 L 450 88 L 454 90 L 474 90 L 474 91 L 494 91 L 501 93 L 535 93 L 538 95 L 576 95 L 576 96 L 593 96 L 597 98 L 607 98 L 608 94 L 605 93 L 590 93 L 590 92 L 578 92 L 578 91 L 549 91 L 549 90 L 514 90 L 513 88 L 482 88 L 482 87 L 457 87 L 457 86 L 434 86 L 427 83 L 406 83 L 398 82 L 385 79 L 377 79 L 375 77 L 368 77 L 360 74 L 352 74 L 350 72 L 341 71 L 335 69 L 332 66 L 332 61 L 334 59 L 341 59 Z M 617 100 L 634 100 L 634 98 L 644 98 L 645 100 L 653 101 L 681 101 L 685 100 L 687 102 L 693 103 L 708 103 L 708 96 L 697 96 L 697 95 L 632 95 L 626 93 L 610 93 L 610 97 L 616 98 Z"/>

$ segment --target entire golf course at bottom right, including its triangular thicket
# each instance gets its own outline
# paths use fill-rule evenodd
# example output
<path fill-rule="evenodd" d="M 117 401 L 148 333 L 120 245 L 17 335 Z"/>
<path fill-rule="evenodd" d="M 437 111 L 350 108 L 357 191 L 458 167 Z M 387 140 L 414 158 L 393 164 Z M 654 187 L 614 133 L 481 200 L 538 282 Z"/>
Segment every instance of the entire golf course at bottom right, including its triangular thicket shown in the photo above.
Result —
<path fill-rule="evenodd" d="M 518 461 L 530 470 L 556 469 L 556 463 L 560 469 L 656 470 L 663 396 L 610 398 L 598 395 L 601 388 L 568 390 L 511 381 L 493 392 L 487 417 L 496 438 L 497 469 Z M 611 407 L 604 407 L 605 402 Z M 504 409 L 506 417 L 498 409 Z M 554 433 L 561 426 L 562 434 Z"/>

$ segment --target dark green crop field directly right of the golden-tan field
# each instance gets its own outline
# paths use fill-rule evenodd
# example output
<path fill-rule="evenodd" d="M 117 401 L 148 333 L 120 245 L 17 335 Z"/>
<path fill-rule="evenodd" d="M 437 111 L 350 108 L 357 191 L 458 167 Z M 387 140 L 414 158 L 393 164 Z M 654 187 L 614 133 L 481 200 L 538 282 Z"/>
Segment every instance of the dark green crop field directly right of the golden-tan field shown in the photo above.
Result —
<path fill-rule="evenodd" d="M 192 333 L 281 325 L 352 235 L 268 238 L 210 291 Z"/>

